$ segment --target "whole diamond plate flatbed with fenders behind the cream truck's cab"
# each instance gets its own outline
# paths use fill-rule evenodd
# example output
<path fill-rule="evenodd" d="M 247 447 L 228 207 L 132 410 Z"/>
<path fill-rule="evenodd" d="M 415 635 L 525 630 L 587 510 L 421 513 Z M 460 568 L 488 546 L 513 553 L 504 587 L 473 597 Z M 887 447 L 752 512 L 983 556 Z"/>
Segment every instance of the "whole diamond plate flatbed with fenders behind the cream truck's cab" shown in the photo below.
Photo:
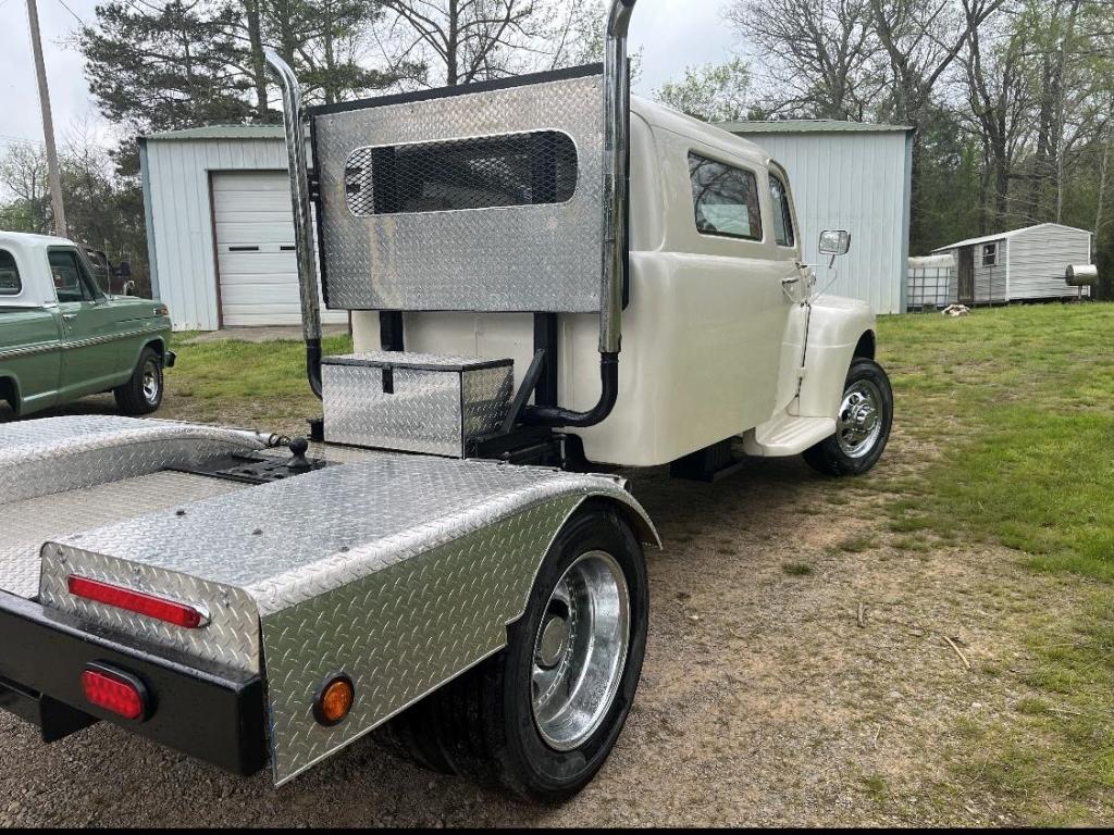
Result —
<path fill-rule="evenodd" d="M 35 540 L 49 533 L 38 584 L 48 610 L 265 676 L 277 783 L 501 649 L 550 543 L 586 500 L 614 502 L 644 540 L 657 541 L 618 478 L 315 445 L 310 454 L 333 465 L 242 485 L 164 470 L 229 448 L 283 454 L 263 449 L 267 436 L 153 424 L 120 423 L 82 440 L 87 424 L 56 423 L 23 430 L 8 446 L 0 428 L 0 459 L 39 479 L 26 484 L 9 472 L 9 495 L 30 495 L 3 509 L 72 518 L 29 522 L 3 553 L 33 559 Z M 52 448 L 81 465 L 74 489 Z M 128 511 L 100 507 L 146 487 L 163 498 Z M 199 605 L 209 621 L 179 629 L 75 597 L 71 574 Z M 18 582 L 31 591 L 26 572 Z M 360 697 L 343 724 L 326 728 L 313 720 L 312 700 L 339 670 Z"/>

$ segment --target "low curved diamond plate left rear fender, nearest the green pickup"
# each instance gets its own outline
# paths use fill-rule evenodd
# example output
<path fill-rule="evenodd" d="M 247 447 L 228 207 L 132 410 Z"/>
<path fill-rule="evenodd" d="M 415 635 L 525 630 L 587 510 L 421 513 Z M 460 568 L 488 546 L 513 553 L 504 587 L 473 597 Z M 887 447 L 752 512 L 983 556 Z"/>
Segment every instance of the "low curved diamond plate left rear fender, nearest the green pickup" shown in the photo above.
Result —
<path fill-rule="evenodd" d="M 115 415 L 6 423 L 0 425 L 0 504 L 265 445 L 265 436 L 254 432 Z"/>

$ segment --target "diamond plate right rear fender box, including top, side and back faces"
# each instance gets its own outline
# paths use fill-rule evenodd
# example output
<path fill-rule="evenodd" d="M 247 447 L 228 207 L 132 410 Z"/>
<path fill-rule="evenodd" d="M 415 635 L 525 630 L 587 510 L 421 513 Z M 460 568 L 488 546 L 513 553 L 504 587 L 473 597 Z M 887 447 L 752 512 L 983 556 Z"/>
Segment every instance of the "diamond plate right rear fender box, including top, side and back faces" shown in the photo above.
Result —
<path fill-rule="evenodd" d="M 145 635 L 242 669 L 257 668 L 261 621 L 283 782 L 502 646 L 548 542 L 590 495 L 656 540 L 620 479 L 380 453 L 62 538 L 45 548 L 42 589 L 74 610 L 61 589 L 78 569 L 203 602 L 221 630 Z M 322 734 L 309 699 L 325 660 L 356 679 L 365 713 Z"/>

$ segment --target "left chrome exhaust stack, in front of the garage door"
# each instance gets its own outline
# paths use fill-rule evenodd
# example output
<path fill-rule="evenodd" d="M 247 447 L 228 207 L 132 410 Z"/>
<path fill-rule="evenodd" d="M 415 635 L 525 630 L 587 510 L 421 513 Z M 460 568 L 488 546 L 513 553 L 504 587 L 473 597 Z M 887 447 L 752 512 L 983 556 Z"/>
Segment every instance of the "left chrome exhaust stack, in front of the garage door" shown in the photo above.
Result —
<path fill-rule="evenodd" d="M 313 255 L 313 222 L 310 214 L 310 167 L 302 130 L 302 92 L 294 70 L 270 47 L 263 50 L 271 72 L 282 89 L 286 154 L 290 157 L 290 195 L 294 209 L 294 244 L 297 249 L 297 284 L 302 296 L 302 334 L 305 338 L 305 372 L 310 387 L 321 399 L 321 307 L 317 302 L 317 268 Z"/>

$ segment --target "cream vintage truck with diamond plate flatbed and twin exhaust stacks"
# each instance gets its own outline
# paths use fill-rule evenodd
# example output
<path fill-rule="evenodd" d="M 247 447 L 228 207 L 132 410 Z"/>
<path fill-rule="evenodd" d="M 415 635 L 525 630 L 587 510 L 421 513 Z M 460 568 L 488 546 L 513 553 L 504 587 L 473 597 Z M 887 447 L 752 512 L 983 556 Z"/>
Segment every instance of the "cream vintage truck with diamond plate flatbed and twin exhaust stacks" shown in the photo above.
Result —
<path fill-rule="evenodd" d="M 45 741 L 104 719 L 280 785 L 378 733 L 565 799 L 635 699 L 661 544 L 587 468 L 878 463 L 873 314 L 817 292 L 784 168 L 631 98 L 634 7 L 613 0 L 603 67 L 304 118 L 266 52 L 320 416 L 310 440 L 0 426 L 0 707 Z M 354 355 L 322 355 L 322 293 Z"/>

